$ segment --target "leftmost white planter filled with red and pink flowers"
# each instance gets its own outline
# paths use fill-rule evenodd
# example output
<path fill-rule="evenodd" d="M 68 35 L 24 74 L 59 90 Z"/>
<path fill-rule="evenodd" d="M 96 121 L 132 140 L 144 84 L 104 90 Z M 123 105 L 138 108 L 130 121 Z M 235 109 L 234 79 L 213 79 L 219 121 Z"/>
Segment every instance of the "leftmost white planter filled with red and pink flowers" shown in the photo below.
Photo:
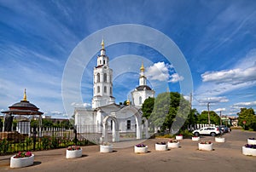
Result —
<path fill-rule="evenodd" d="M 31 152 L 19 152 L 10 158 L 10 168 L 21 168 L 34 163 L 34 154 Z"/>

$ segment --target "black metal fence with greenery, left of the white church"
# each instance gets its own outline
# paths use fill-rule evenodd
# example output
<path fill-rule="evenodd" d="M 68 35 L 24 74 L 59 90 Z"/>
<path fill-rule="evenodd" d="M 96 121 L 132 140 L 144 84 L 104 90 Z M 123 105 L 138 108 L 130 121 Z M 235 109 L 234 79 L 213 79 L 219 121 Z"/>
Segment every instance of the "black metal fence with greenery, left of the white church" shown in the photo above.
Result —
<path fill-rule="evenodd" d="M 0 155 L 92 144 L 94 143 L 78 134 L 76 129 L 34 127 L 27 134 L 18 131 L 0 132 Z"/>

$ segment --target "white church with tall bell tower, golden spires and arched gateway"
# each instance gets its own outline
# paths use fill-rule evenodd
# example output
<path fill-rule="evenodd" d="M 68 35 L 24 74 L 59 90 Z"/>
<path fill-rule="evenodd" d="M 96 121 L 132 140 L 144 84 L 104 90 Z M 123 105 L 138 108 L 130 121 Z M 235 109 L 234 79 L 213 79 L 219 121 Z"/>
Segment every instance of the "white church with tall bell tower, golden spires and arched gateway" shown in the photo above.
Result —
<path fill-rule="evenodd" d="M 102 40 L 102 49 L 97 56 L 93 72 L 93 98 L 91 107 L 75 107 L 74 117 L 78 132 L 97 133 L 101 141 L 119 141 L 122 133 L 135 133 L 137 139 L 148 138 L 148 121 L 143 118 L 141 107 L 144 100 L 154 97 L 154 90 L 148 87 L 144 66 L 140 68 L 139 86 L 131 92 L 131 102 L 117 105 L 113 97 L 113 70 L 108 66 L 108 56 Z"/>

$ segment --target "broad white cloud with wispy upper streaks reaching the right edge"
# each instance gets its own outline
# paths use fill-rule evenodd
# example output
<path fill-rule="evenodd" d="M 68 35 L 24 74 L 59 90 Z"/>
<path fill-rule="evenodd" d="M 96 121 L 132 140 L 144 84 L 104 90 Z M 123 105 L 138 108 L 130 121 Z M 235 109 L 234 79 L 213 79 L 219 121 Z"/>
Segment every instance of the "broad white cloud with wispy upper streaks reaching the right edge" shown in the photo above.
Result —
<path fill-rule="evenodd" d="M 231 69 L 201 74 L 203 83 L 195 90 L 196 95 L 223 95 L 236 89 L 256 85 L 256 49 L 251 49 Z"/>

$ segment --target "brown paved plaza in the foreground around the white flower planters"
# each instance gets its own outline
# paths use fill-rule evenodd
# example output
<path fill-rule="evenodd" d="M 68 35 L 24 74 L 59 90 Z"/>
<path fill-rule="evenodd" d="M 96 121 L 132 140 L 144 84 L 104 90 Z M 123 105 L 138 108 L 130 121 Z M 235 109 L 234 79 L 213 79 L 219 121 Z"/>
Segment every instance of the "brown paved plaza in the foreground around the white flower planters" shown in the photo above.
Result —
<path fill-rule="evenodd" d="M 248 137 L 256 137 L 256 132 L 232 130 L 224 135 L 225 143 L 216 143 L 213 137 L 205 136 L 201 140 L 211 140 L 213 151 L 197 149 L 197 141 L 181 140 L 181 147 L 166 152 L 156 152 L 154 143 L 167 139 L 145 140 L 149 152 L 136 154 L 133 145 L 137 141 L 124 141 L 114 145 L 114 152 L 100 153 L 99 146 L 83 146 L 83 157 L 66 159 L 66 149 L 57 149 L 35 154 L 32 166 L 21 169 L 10 169 L 10 156 L 0 157 L 0 171 L 224 171 L 255 172 L 256 157 L 241 154 L 241 146 L 247 143 Z M 119 148 L 117 148 L 119 147 Z"/>

